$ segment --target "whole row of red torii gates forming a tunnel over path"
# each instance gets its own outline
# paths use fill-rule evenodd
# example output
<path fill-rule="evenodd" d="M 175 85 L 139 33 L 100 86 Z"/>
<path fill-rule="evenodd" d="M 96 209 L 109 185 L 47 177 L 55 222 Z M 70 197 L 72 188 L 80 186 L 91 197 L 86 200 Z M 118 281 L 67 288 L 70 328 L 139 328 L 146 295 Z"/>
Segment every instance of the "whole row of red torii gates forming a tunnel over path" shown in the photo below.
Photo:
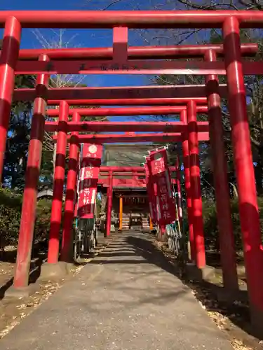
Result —
<path fill-rule="evenodd" d="M 257 53 L 257 45 L 241 44 L 242 28 L 262 28 L 263 13 L 252 10 L 214 11 L 0 11 L 4 38 L 0 63 L 0 171 L 4 165 L 6 134 L 15 101 L 34 101 L 31 139 L 27 160 L 25 192 L 13 288 L 28 285 L 32 253 L 36 195 L 41 164 L 42 142 L 47 131 L 58 132 L 53 207 L 48 247 L 48 265 L 55 269 L 58 260 L 67 260 L 70 248 L 74 193 L 79 143 L 108 144 L 182 142 L 184 186 L 191 243 L 191 263 L 198 271 L 205 269 L 198 141 L 208 141 L 212 151 L 213 176 L 219 227 L 224 288 L 238 290 L 234 235 L 231 223 L 227 163 L 224 152 L 221 99 L 227 99 L 231 120 L 231 141 L 238 184 L 239 214 L 243 252 L 248 281 L 251 322 L 262 332 L 263 325 L 263 255 L 255 174 L 246 111 L 244 75 L 262 75 L 263 62 L 245 57 Z M 113 43 L 107 48 L 56 50 L 20 50 L 22 28 L 113 29 Z M 128 47 L 129 29 L 217 28 L 222 29 L 223 43 L 217 45 Z M 217 61 L 217 57 L 221 57 Z M 189 59 L 191 60 L 185 60 Z M 125 87 L 50 88 L 53 74 L 154 74 L 205 76 L 203 85 L 147 85 Z M 36 74 L 35 89 L 14 89 L 15 75 Z M 217 76 L 225 76 L 219 84 Z M 46 110 L 47 105 L 58 109 Z M 69 107 L 74 106 L 74 109 Z M 77 106 L 107 106 L 102 109 L 79 109 Z M 125 106 L 123 109 L 108 106 Z M 140 110 L 140 111 L 139 111 Z M 135 116 L 178 114 L 174 123 L 83 122 L 81 116 Z M 198 123 L 197 113 L 206 113 L 208 121 Z M 58 122 L 46 123 L 46 116 L 58 116 Z M 68 118 L 71 116 L 72 118 Z M 120 114 L 119 114 L 120 115 Z M 81 132 L 81 134 L 79 134 Z M 115 134 L 90 134 L 114 132 Z M 119 134 L 135 132 L 135 134 Z M 145 134 L 136 134 L 144 132 Z M 59 248 L 62 218 L 65 152 L 69 142 L 69 169 L 62 223 L 63 243 Z M 137 172 L 131 169 L 101 169 L 109 174 L 108 218 L 114 190 L 114 172 Z M 136 176 L 135 176 L 136 177 Z M 143 186 L 143 181 L 140 182 Z M 139 186 L 139 187 L 140 187 Z M 109 220 L 107 234 L 109 235 Z"/>

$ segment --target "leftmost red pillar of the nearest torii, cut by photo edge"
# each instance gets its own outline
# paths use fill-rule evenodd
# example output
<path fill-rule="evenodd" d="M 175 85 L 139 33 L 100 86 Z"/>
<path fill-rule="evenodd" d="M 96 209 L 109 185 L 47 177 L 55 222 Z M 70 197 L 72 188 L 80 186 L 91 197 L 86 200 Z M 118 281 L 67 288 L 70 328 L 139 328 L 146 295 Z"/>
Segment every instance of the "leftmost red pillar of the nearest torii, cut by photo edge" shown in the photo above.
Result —
<path fill-rule="evenodd" d="M 21 25 L 15 17 L 6 20 L 0 57 L 0 182 L 6 152 L 6 134 L 10 120 L 15 83 L 15 64 L 20 47 Z"/>

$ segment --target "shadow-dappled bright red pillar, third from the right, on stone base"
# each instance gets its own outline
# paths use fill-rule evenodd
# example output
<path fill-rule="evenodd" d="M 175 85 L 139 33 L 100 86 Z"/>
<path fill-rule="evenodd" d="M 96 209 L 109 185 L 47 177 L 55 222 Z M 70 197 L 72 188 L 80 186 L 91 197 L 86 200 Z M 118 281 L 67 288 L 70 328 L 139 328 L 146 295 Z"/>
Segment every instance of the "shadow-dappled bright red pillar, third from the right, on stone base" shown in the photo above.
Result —
<path fill-rule="evenodd" d="M 191 214 L 194 225 L 194 242 L 196 248 L 196 266 L 205 267 L 205 241 L 203 235 L 203 209 L 200 183 L 200 163 L 196 123 L 196 102 L 187 104 L 188 144 L 191 177 Z"/>

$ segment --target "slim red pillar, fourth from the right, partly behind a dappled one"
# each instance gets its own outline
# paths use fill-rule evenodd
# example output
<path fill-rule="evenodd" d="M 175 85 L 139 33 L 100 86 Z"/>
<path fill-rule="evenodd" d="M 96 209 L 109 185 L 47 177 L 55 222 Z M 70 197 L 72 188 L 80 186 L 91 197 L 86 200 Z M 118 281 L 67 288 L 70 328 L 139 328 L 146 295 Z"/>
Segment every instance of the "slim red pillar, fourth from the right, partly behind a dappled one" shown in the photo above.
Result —
<path fill-rule="evenodd" d="M 180 113 L 181 122 L 187 124 L 187 111 Z M 182 157 L 184 162 L 184 186 L 187 195 L 187 218 L 189 228 L 189 241 L 191 248 L 191 261 L 196 261 L 196 248 L 194 244 L 194 225 L 191 214 L 191 177 L 190 177 L 190 162 L 189 162 L 189 146 L 188 146 L 188 133 L 182 133 Z"/>

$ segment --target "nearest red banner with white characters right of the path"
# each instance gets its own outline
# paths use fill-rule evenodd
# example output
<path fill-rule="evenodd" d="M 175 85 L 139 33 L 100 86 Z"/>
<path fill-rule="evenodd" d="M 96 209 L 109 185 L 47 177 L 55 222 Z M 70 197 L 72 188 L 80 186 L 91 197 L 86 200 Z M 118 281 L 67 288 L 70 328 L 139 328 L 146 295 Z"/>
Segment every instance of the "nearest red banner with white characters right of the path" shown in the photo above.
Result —
<path fill-rule="evenodd" d="M 169 225 L 176 220 L 175 202 L 168 167 L 167 151 L 151 152 L 149 155 L 151 176 L 156 186 L 156 213 L 159 225 Z"/>

